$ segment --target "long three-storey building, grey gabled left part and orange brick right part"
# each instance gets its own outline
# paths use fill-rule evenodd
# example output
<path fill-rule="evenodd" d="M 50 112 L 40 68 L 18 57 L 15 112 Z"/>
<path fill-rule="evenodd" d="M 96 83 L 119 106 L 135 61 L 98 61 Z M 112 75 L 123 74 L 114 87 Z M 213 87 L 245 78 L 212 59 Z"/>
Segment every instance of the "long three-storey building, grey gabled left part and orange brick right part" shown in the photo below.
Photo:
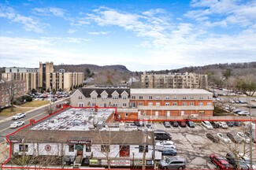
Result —
<path fill-rule="evenodd" d="M 172 116 L 213 116 L 213 94 L 202 89 L 80 88 L 71 95 L 73 107 L 117 107 L 121 119 Z"/>

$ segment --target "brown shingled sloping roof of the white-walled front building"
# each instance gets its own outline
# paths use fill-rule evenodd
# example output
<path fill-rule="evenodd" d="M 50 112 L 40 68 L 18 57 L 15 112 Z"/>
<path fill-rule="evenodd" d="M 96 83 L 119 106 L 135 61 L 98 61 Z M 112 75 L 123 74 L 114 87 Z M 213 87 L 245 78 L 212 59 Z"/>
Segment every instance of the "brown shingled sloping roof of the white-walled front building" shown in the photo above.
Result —
<path fill-rule="evenodd" d="M 9 140 L 21 142 L 64 142 L 71 139 L 87 139 L 92 144 L 127 144 L 143 145 L 143 136 L 147 135 L 146 144 L 154 145 L 154 131 L 58 131 L 28 130 L 17 131 Z"/>

